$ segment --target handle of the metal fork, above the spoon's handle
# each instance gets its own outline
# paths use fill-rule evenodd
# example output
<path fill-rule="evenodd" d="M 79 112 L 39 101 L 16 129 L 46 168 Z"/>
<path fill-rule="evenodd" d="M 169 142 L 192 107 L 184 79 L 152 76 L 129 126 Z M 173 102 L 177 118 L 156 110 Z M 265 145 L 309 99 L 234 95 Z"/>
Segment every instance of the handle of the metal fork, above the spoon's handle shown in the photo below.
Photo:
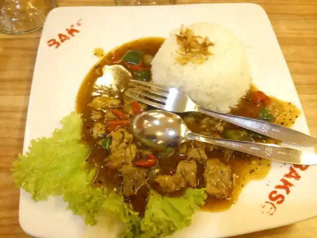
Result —
<path fill-rule="evenodd" d="M 224 114 L 224 113 L 217 113 L 217 112 L 200 108 L 198 106 L 195 108 L 195 111 L 209 115 L 217 119 L 225 120 L 232 124 L 239 125 L 241 127 L 244 127 L 252 131 L 256 131 L 260 134 L 281 140 L 283 142 L 288 142 L 288 143 L 297 144 L 297 145 L 305 145 L 305 146 L 317 145 L 317 138 L 313 136 L 306 135 L 302 132 L 292 130 L 290 128 L 277 125 L 274 123 L 270 123 L 267 121 L 233 116 L 233 115 Z"/>

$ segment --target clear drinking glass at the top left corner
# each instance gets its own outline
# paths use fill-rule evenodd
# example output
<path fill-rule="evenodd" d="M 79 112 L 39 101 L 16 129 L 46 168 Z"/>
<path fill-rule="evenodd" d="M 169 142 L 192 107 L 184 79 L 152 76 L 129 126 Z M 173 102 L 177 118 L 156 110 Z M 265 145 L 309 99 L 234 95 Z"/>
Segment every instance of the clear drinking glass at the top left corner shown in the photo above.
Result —
<path fill-rule="evenodd" d="M 0 32 L 25 34 L 43 27 L 56 0 L 0 0 Z"/>

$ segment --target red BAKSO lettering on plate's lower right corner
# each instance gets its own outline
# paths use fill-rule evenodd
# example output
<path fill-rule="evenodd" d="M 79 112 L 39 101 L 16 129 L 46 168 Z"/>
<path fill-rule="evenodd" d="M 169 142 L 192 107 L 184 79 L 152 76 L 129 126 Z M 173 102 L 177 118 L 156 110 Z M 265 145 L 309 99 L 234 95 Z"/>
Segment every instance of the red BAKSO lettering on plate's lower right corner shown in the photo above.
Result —
<path fill-rule="evenodd" d="M 300 180 L 302 171 L 306 171 L 309 165 L 293 165 L 289 172 L 280 179 L 280 182 L 274 187 L 275 189 L 268 194 L 268 201 L 261 205 L 261 212 L 272 216 L 277 209 L 277 205 L 282 204 L 285 198 L 291 192 L 295 180 Z"/>

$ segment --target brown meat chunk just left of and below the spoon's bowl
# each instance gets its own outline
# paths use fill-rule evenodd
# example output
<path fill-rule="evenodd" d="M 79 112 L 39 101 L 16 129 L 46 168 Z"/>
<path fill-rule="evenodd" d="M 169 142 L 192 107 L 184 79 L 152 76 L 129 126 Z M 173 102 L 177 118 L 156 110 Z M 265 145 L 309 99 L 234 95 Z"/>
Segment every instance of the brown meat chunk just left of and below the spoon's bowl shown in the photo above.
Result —
<path fill-rule="evenodd" d="M 126 129 L 118 129 L 110 133 L 110 135 L 112 136 L 111 145 L 109 146 L 111 153 L 119 149 L 127 148 L 129 143 L 133 140 L 133 135 Z"/>

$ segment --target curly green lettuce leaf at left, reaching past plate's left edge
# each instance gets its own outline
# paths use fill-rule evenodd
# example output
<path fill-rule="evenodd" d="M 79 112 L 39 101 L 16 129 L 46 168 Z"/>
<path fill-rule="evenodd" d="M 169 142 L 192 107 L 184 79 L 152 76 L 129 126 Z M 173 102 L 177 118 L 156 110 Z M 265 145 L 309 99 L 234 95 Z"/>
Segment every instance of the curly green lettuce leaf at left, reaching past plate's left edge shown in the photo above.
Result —
<path fill-rule="evenodd" d="M 81 115 L 71 113 L 60 123 L 61 129 L 55 129 L 52 137 L 32 140 L 26 155 L 19 155 L 13 163 L 16 186 L 31 193 L 36 201 L 62 195 L 68 209 L 85 217 L 87 225 L 96 225 L 96 216 L 103 209 L 117 212 L 127 223 L 124 236 L 139 234 L 138 214 L 124 202 L 123 195 L 107 194 L 106 187 L 92 186 L 96 171 L 83 169 L 89 149 L 80 142 Z"/>

